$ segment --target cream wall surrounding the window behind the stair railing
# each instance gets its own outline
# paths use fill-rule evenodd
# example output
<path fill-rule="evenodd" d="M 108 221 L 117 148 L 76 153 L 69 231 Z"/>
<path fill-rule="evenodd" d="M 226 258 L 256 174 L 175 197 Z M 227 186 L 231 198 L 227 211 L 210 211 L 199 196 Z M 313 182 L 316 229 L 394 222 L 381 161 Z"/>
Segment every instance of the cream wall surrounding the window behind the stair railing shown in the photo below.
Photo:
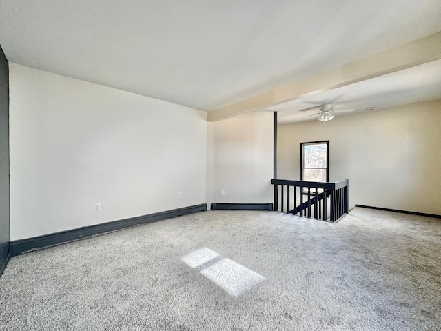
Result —
<path fill-rule="evenodd" d="M 300 142 L 329 140 L 349 204 L 441 214 L 441 100 L 278 127 L 278 178 L 300 179 Z"/>

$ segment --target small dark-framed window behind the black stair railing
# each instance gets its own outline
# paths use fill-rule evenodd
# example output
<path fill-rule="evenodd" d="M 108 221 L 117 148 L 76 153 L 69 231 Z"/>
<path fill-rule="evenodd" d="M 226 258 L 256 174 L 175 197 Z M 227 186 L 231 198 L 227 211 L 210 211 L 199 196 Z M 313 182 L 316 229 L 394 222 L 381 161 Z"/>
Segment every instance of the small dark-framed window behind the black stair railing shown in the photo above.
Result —
<path fill-rule="evenodd" d="M 329 141 L 300 143 L 302 181 L 329 181 Z"/>

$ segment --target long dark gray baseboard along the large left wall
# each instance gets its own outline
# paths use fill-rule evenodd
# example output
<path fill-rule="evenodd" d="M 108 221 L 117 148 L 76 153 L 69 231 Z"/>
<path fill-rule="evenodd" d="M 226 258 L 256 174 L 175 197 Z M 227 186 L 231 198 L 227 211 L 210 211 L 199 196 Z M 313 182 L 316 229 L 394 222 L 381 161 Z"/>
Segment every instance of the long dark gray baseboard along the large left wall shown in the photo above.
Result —
<path fill-rule="evenodd" d="M 74 230 L 45 234 L 40 237 L 15 240 L 10 242 L 9 253 L 13 257 L 23 252 L 29 252 L 52 245 L 59 245 L 61 243 L 68 243 L 70 241 L 91 237 L 96 234 L 122 230 L 124 228 L 130 228 L 139 224 L 161 221 L 163 219 L 170 219 L 171 217 L 178 217 L 185 214 L 192 214 L 194 212 L 203 212 L 206 210 L 207 203 L 203 203 L 201 205 L 192 205 L 185 208 L 167 210 L 165 212 L 156 212 L 155 214 L 147 214 L 144 216 L 132 217 L 130 219 L 121 219 L 119 221 L 85 226 L 83 228 L 77 228 Z"/>

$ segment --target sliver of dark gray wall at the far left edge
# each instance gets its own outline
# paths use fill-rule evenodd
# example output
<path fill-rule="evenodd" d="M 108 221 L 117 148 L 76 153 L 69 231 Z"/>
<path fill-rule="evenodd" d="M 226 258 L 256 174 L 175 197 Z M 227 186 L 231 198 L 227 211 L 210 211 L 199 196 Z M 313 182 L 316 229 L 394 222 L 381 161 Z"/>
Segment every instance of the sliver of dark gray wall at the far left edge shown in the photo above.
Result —
<path fill-rule="evenodd" d="M 0 46 L 0 269 L 9 241 L 9 66 Z"/>

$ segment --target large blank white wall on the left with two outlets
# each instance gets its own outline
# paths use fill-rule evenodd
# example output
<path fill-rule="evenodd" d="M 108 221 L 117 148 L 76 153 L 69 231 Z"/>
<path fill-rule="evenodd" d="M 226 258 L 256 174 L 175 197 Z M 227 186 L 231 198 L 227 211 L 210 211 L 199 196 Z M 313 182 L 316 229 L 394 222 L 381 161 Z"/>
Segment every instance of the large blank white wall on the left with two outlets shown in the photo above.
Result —
<path fill-rule="evenodd" d="M 206 162 L 205 112 L 10 63 L 11 240 L 205 203 Z"/>

